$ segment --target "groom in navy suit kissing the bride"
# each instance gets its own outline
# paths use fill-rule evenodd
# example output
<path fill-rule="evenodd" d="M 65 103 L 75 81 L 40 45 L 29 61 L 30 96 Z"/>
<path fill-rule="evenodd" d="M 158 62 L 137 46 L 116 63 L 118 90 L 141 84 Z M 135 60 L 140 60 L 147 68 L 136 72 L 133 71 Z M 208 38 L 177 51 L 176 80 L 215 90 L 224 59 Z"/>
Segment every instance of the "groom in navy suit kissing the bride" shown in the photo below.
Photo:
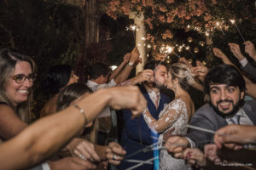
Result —
<path fill-rule="evenodd" d="M 160 89 L 164 87 L 164 83 L 167 79 L 167 66 L 166 63 L 152 60 L 149 61 L 145 66 L 145 69 L 151 69 L 154 71 L 152 77 L 154 77 L 153 82 L 143 82 L 139 86 L 145 99 L 148 101 L 148 111 L 155 119 L 158 119 L 160 111 L 164 109 L 164 104 L 170 103 L 171 99 L 165 94 L 160 92 Z M 147 123 L 144 121 L 143 116 L 131 119 L 131 111 L 124 110 L 124 129 L 121 137 L 121 145 L 126 150 L 127 159 L 137 160 L 137 161 L 147 161 L 148 159 L 154 158 L 153 150 L 142 151 L 136 155 L 130 156 L 137 150 L 142 150 L 143 148 L 154 144 L 158 141 L 158 135 L 153 137 L 153 133 L 148 128 Z M 151 161 L 152 162 L 152 161 Z M 119 169 L 126 169 L 137 165 L 134 162 L 122 161 Z M 143 164 L 136 169 L 153 169 L 153 164 Z"/>

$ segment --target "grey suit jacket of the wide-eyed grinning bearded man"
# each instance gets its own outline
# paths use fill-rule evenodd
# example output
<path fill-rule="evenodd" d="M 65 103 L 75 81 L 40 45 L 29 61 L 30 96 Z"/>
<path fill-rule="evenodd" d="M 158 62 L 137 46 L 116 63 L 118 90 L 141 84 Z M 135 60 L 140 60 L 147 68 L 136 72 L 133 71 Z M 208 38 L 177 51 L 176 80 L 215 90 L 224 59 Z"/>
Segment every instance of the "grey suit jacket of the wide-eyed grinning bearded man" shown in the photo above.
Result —
<path fill-rule="evenodd" d="M 256 100 L 246 101 L 241 109 L 246 113 L 249 119 L 256 125 Z M 217 131 L 219 128 L 228 125 L 228 122 L 212 109 L 209 104 L 203 105 L 199 110 L 195 111 L 195 115 L 190 122 L 196 127 L 203 127 L 212 131 Z M 205 144 L 213 143 L 213 134 L 205 133 L 195 129 L 189 129 L 186 135 L 189 139 L 195 142 L 196 147 L 203 150 Z"/>

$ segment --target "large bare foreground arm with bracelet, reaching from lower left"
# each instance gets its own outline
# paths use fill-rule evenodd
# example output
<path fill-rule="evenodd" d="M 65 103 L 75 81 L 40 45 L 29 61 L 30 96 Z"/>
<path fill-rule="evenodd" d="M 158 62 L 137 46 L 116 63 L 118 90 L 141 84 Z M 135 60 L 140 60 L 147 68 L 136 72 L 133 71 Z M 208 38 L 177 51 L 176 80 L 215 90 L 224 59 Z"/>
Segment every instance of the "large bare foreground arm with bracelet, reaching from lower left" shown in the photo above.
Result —
<path fill-rule="evenodd" d="M 43 161 L 61 149 L 84 123 L 91 122 L 107 105 L 118 110 L 128 108 L 137 115 L 146 107 L 146 100 L 138 88 L 120 87 L 98 90 L 80 99 L 77 105 L 84 111 L 69 106 L 58 114 L 39 119 L 14 139 L 1 144 L 0 168 L 24 169 Z"/>

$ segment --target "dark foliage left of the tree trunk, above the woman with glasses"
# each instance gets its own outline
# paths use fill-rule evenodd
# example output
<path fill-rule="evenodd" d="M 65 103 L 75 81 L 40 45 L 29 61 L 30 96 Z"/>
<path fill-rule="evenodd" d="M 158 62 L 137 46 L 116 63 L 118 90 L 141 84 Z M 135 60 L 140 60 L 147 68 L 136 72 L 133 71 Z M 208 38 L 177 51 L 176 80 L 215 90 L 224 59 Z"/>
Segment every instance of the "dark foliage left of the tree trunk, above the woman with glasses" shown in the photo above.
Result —
<path fill-rule="evenodd" d="M 15 48 L 38 64 L 34 83 L 34 116 L 48 99 L 40 84 L 51 65 L 75 65 L 82 46 L 79 8 L 41 0 L 0 1 L 0 48 Z M 79 21 L 79 22 L 78 22 Z"/>

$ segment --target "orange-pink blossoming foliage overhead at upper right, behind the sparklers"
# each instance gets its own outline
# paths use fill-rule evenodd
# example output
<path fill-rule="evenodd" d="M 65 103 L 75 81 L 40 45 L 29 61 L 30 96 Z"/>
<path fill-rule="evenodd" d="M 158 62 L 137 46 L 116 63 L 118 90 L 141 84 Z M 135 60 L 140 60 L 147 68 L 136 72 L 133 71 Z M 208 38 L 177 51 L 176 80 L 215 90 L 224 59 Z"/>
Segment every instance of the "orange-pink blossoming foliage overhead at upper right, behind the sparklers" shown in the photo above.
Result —
<path fill-rule="evenodd" d="M 236 20 L 236 26 L 241 29 L 247 40 L 255 38 L 255 5 L 251 0 L 104 0 L 102 11 L 115 20 L 119 16 L 129 15 L 130 12 L 143 14 L 147 27 L 146 43 L 152 47 L 148 53 L 156 59 L 165 57 L 160 53 L 163 44 L 180 47 L 185 43 L 190 47 L 186 40 L 192 33 L 195 35 L 194 42 L 197 42 L 197 46 L 194 44 L 190 47 L 193 54 L 185 50 L 179 53 L 178 48 L 175 48 L 175 52 L 187 58 L 207 60 L 212 65 L 218 61 L 210 55 L 206 56 L 206 52 L 209 54 L 212 47 L 202 47 L 199 44 L 202 41 L 206 43 L 206 34 L 212 38 L 212 45 L 216 47 L 226 47 L 223 42 L 226 42 L 227 38 L 231 42 L 239 39 L 241 43 L 236 27 L 230 23 L 231 19 Z M 248 32 L 247 29 L 253 32 Z M 183 30 L 183 36 L 177 35 L 180 30 Z M 183 37 L 183 40 L 180 37 Z M 196 54 L 195 47 L 199 48 L 201 53 Z M 176 57 L 172 58 L 175 60 Z"/>

